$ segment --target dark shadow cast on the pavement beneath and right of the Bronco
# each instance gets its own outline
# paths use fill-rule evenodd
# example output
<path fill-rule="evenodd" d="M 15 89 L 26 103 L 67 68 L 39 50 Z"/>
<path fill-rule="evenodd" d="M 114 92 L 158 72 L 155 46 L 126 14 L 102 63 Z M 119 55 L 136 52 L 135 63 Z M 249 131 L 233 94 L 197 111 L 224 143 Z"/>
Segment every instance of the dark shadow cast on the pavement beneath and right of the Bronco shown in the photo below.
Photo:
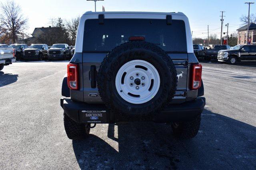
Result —
<path fill-rule="evenodd" d="M 95 135 L 73 141 L 81 169 L 254 169 L 255 146 L 256 127 L 206 109 L 190 140 L 174 139 L 170 125 L 134 122 L 110 124 L 108 143 Z"/>

